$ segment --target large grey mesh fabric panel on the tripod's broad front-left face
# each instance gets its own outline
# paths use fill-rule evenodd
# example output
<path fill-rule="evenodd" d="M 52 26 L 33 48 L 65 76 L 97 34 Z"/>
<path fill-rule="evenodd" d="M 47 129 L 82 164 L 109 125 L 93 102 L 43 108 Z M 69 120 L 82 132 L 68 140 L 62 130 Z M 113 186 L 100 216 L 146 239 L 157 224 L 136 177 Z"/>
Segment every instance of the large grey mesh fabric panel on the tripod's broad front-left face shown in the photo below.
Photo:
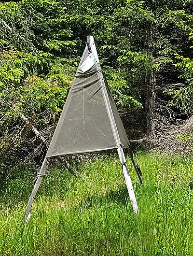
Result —
<path fill-rule="evenodd" d="M 46 157 L 117 148 L 96 65 L 77 71 Z"/>

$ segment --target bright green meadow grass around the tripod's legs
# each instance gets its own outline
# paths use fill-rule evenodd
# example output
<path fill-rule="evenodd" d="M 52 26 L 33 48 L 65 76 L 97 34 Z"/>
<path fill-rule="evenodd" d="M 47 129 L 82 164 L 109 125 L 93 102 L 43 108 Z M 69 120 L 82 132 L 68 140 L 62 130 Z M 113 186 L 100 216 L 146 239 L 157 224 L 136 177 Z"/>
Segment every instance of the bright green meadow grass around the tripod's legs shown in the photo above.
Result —
<path fill-rule="evenodd" d="M 85 161 L 82 178 L 50 167 L 28 225 L 32 182 L 9 181 L 0 192 L 0 256 L 193 256 L 193 157 L 137 156 L 144 186 L 127 162 L 138 214 L 116 156 Z"/>

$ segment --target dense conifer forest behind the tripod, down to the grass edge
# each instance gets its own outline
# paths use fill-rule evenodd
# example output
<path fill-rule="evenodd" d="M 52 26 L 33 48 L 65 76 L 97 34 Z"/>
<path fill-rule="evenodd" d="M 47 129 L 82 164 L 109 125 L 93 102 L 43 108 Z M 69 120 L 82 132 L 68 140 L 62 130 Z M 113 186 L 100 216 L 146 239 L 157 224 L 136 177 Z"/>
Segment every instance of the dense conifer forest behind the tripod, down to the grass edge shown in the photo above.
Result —
<path fill-rule="evenodd" d="M 43 158 L 87 35 L 134 146 L 191 152 L 192 14 L 192 0 L 1 1 L 1 180 Z"/>

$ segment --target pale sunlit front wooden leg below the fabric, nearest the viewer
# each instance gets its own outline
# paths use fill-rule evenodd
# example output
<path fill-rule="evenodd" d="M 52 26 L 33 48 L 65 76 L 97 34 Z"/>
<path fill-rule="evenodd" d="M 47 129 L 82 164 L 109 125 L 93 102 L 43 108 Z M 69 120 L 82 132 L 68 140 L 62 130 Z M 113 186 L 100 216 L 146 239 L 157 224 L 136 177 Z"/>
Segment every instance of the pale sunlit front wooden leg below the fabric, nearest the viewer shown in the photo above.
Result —
<path fill-rule="evenodd" d="M 138 213 L 138 203 L 137 203 L 136 196 L 135 196 L 134 189 L 133 189 L 133 185 L 132 185 L 132 182 L 131 182 L 131 177 L 129 175 L 129 170 L 127 168 L 123 148 L 118 148 L 117 151 L 118 151 L 120 162 L 122 164 L 122 171 L 123 171 L 123 174 L 124 174 L 124 179 L 125 179 L 125 183 L 126 183 L 126 186 L 127 186 L 128 193 L 129 193 L 129 198 L 131 200 L 131 204 L 132 204 L 132 207 L 133 207 L 133 211 L 134 211 L 134 213 Z"/>

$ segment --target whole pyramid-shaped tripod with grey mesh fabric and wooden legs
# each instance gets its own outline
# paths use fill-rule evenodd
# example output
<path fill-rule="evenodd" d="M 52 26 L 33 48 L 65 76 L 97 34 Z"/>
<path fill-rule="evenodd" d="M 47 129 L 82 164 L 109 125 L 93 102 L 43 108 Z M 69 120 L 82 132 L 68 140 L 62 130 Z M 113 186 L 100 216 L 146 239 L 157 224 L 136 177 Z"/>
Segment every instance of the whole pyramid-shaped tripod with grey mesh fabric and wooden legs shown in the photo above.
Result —
<path fill-rule="evenodd" d="M 94 39 L 88 36 L 83 57 L 40 173 L 37 175 L 25 215 L 28 216 L 30 212 L 50 158 L 91 152 L 102 153 L 107 150 L 118 151 L 129 197 L 133 210 L 137 213 L 138 205 L 124 157 L 124 148 L 128 149 L 139 180 L 143 183 L 141 171 L 131 150 L 107 81 L 101 71 Z"/>

